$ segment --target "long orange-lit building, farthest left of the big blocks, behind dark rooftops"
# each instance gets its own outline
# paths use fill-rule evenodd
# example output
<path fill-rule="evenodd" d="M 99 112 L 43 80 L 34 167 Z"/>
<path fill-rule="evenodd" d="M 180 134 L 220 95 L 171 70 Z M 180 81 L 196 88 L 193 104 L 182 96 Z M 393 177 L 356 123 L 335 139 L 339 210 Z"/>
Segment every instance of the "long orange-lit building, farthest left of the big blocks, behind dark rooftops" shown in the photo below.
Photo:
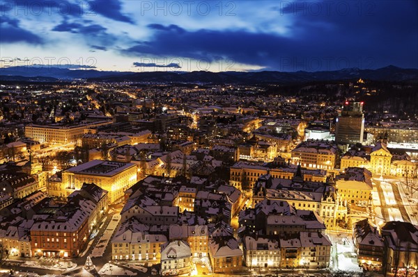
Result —
<path fill-rule="evenodd" d="M 36 125 L 29 124 L 24 128 L 25 137 L 31 137 L 42 143 L 67 144 L 81 140 L 84 130 L 97 126 L 107 125 L 109 121 L 95 121 L 91 123 L 78 124 L 74 126 L 63 126 L 59 124 Z"/>

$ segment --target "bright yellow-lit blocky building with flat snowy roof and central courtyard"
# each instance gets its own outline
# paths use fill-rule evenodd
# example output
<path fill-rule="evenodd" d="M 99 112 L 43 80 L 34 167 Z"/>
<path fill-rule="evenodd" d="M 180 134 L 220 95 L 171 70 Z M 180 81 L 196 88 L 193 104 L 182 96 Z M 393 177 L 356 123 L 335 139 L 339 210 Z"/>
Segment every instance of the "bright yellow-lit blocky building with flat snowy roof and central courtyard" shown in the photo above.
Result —
<path fill-rule="evenodd" d="M 56 182 L 59 183 L 59 182 Z M 95 183 L 98 187 L 109 192 L 109 202 L 121 199 L 125 190 L 137 183 L 137 165 L 125 162 L 107 160 L 92 160 L 77 167 L 71 167 L 62 172 L 60 190 L 55 196 L 68 196 L 79 190 L 83 183 Z"/>

